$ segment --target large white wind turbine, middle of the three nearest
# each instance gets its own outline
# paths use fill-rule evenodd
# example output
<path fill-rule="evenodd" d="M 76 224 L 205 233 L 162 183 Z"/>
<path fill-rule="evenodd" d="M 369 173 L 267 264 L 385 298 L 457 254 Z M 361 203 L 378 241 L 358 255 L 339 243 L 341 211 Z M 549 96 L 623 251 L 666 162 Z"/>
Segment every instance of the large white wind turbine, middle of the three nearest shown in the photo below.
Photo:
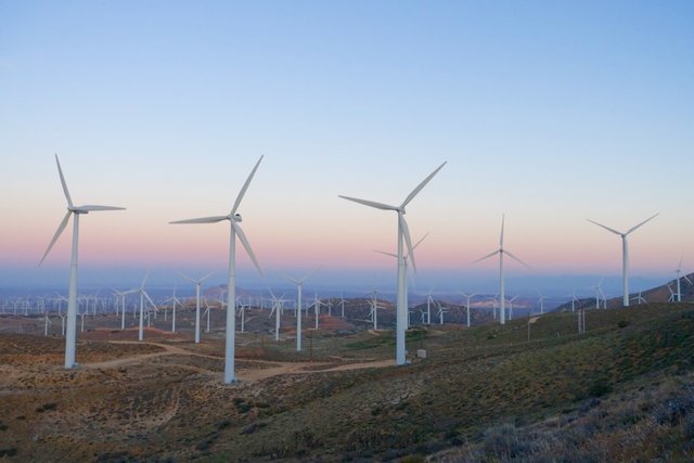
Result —
<path fill-rule="evenodd" d="M 253 180 L 253 176 L 256 173 L 260 162 L 262 160 L 262 156 L 258 159 L 255 167 L 250 171 L 250 175 L 246 179 L 246 182 L 241 188 L 241 192 L 239 196 L 236 196 L 236 202 L 234 203 L 231 211 L 226 216 L 215 216 L 215 217 L 203 217 L 201 219 L 190 219 L 190 220 L 178 220 L 171 223 L 216 223 L 221 222 L 223 220 L 229 220 L 231 223 L 231 230 L 229 233 L 229 283 L 228 283 L 228 292 L 227 292 L 227 335 L 226 335 L 226 345 L 224 345 L 224 383 L 235 383 L 235 373 L 234 373 L 234 356 L 235 356 L 235 313 L 234 308 L 236 307 L 236 235 L 239 235 L 239 240 L 241 240 L 241 244 L 246 249 L 248 257 L 253 260 L 253 263 L 256 266 L 260 274 L 262 274 L 262 270 L 260 270 L 260 266 L 256 260 L 255 254 L 253 254 L 253 249 L 250 248 L 250 244 L 246 239 L 245 233 L 241 229 L 241 215 L 236 214 L 236 209 L 241 204 L 241 200 L 246 194 L 246 190 L 250 184 L 250 180 Z"/>

